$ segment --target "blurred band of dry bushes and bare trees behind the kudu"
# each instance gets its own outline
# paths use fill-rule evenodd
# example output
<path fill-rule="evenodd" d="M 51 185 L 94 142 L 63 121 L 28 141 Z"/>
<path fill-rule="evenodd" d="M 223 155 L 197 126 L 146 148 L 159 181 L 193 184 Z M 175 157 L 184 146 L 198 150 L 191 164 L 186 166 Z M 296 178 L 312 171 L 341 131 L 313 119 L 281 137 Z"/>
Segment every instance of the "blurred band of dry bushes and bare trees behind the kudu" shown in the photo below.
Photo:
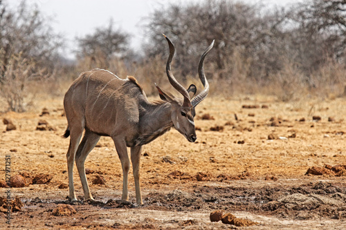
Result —
<path fill-rule="evenodd" d="M 346 96 L 345 0 L 309 0 L 285 8 L 226 0 L 171 3 L 148 15 L 144 55 L 131 50 L 131 34 L 110 19 L 77 37 L 76 58 L 66 59 L 64 37 L 50 22 L 26 1 L 12 9 L 0 0 L 0 97 L 8 106 L 1 111 L 26 111 L 39 93 L 62 97 L 81 72 L 92 68 L 122 78 L 134 75 L 147 95 L 156 94 L 154 82 L 167 84 L 163 33 L 176 47 L 174 75 L 199 89 L 199 57 L 215 39 L 205 61 L 210 96 L 264 94 L 282 101 Z"/>

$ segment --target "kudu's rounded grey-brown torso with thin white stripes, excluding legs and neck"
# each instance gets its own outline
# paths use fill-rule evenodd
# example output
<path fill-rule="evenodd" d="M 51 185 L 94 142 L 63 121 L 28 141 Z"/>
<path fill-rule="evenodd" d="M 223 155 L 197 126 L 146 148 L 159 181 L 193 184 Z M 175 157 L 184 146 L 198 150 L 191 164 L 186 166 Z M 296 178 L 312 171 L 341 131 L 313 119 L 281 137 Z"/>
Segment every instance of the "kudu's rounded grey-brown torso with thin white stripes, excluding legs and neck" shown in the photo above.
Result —
<path fill-rule="evenodd" d="M 131 131 L 129 124 L 138 123 L 138 97 L 143 97 L 143 91 L 134 78 L 120 79 L 100 69 L 84 72 L 64 97 L 69 127 L 80 123 L 94 133 L 111 136 L 126 124 Z"/>

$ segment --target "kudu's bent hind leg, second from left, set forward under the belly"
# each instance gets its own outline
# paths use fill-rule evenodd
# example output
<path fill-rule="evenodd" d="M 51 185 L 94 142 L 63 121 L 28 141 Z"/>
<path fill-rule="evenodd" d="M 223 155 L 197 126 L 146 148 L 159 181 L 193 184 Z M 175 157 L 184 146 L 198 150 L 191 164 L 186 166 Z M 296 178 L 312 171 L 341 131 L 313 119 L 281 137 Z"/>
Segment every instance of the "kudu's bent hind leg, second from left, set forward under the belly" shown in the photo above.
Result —
<path fill-rule="evenodd" d="M 84 162 L 90 151 L 93 150 L 95 145 L 100 140 L 100 135 L 97 135 L 88 129 L 85 129 L 84 137 L 80 146 L 78 146 L 77 153 L 75 154 L 75 164 L 77 165 L 78 173 L 80 174 L 80 182 L 84 191 L 85 200 L 93 200 L 93 196 L 90 193 L 88 181 L 86 180 Z"/>

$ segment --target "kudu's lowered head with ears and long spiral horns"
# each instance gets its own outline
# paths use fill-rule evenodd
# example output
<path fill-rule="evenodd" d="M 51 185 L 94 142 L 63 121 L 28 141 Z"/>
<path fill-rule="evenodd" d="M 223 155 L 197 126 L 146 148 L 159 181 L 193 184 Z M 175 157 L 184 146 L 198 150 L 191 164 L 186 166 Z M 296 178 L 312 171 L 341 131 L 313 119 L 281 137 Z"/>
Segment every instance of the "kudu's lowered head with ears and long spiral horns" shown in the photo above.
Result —
<path fill-rule="evenodd" d="M 155 85 L 158 89 L 160 98 L 163 99 L 165 102 L 169 102 L 171 104 L 171 117 L 176 130 L 179 131 L 179 133 L 181 133 L 182 135 L 184 135 L 189 142 L 195 142 L 197 136 L 194 128 L 194 115 L 196 115 L 194 108 L 197 106 L 197 104 L 199 104 L 199 102 L 203 101 L 203 99 L 206 98 L 209 92 L 209 84 L 206 79 L 206 75 L 204 75 L 203 70 L 203 61 L 208 52 L 211 50 L 212 46 L 214 45 L 214 41 L 212 41 L 212 44 L 210 44 L 206 51 L 203 52 L 203 55 L 199 60 L 198 73 L 199 78 L 201 79 L 201 82 L 204 86 L 204 89 L 201 93 L 194 97 L 194 95 L 197 92 L 196 86 L 194 86 L 194 84 L 191 84 L 190 87 L 186 90 L 185 88 L 183 88 L 183 86 L 181 86 L 181 84 L 179 84 L 179 82 L 176 81 L 175 77 L 173 76 L 171 70 L 171 62 L 174 56 L 174 46 L 170 39 L 168 39 L 168 37 L 165 36 L 165 39 L 167 40 L 168 46 L 170 47 L 170 56 L 167 59 L 166 66 L 167 77 L 170 81 L 170 84 L 172 84 L 172 86 L 176 90 L 178 90 L 178 92 L 181 93 L 181 95 L 183 95 L 183 99 L 174 97 L 172 94 L 165 92 L 165 90 L 161 90 L 161 88 L 159 88 L 156 84 Z M 194 98 L 191 99 L 189 93 L 192 93 L 192 97 Z"/>

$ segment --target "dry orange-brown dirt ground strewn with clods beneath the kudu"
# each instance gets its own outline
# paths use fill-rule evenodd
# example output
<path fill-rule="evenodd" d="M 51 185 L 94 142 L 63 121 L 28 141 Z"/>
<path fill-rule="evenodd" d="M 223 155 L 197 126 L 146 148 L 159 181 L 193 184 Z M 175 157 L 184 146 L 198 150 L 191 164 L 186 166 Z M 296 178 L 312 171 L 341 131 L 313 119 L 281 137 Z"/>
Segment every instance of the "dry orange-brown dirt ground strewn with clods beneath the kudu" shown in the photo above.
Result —
<path fill-rule="evenodd" d="M 12 210 L 8 225 L 3 204 L 0 229 L 346 229 L 344 98 L 207 98 L 197 106 L 196 143 L 172 129 L 144 146 L 139 206 L 131 171 L 129 202 L 120 201 L 122 171 L 109 137 L 86 159 L 95 202 L 82 200 L 76 168 L 81 201 L 67 200 L 63 112 L 62 98 L 41 98 L 33 111 L 0 114 L 17 127 L 0 124 L 0 181 L 5 155 L 11 177 L 24 179 L 23 187 L 10 188 L 23 206 Z M 98 175 L 104 184 L 92 183 Z M 8 188 L 0 191 L 6 198 Z M 64 204 L 74 210 L 61 211 Z M 256 224 L 211 222 L 216 210 Z"/>

